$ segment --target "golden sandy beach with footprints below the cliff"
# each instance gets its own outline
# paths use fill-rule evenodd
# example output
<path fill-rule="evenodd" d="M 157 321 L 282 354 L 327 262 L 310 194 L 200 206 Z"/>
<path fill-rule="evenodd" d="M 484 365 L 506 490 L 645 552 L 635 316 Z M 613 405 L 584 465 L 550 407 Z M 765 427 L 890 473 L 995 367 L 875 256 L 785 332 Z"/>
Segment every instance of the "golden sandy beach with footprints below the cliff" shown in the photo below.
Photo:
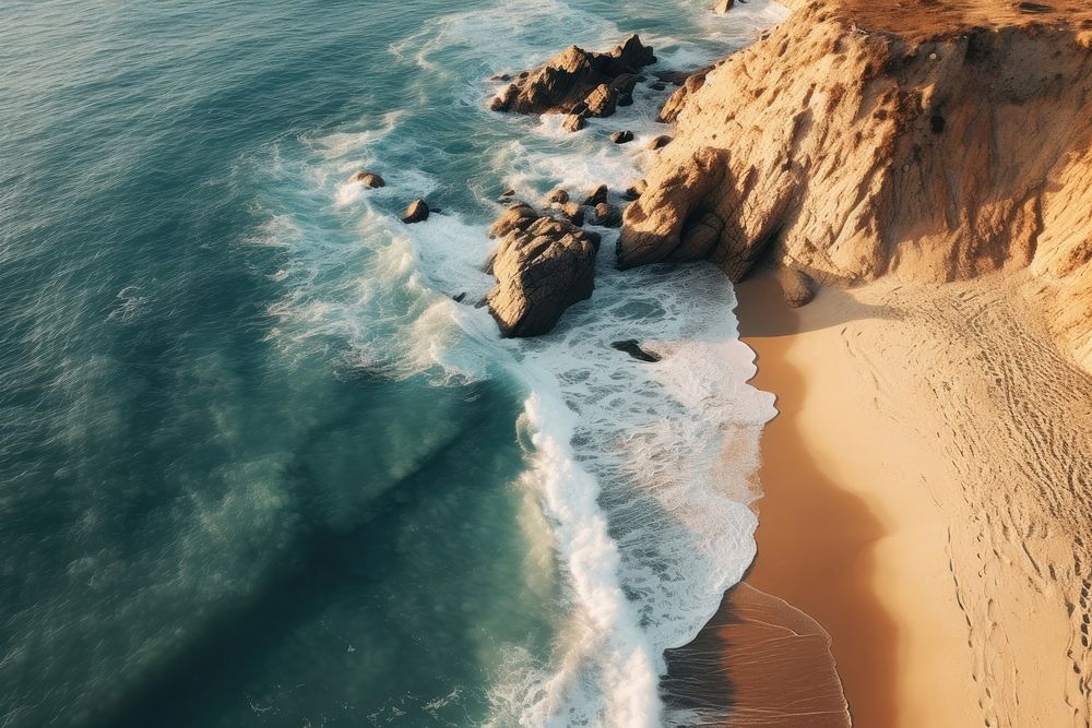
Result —
<path fill-rule="evenodd" d="M 1021 285 L 824 289 L 799 310 L 768 276 L 737 286 L 781 413 L 745 584 L 830 634 L 854 725 L 1089 719 L 1092 381 Z M 721 651 L 731 695 L 750 657 L 724 612 L 695 644 Z M 812 664 L 779 669 L 828 691 Z"/>

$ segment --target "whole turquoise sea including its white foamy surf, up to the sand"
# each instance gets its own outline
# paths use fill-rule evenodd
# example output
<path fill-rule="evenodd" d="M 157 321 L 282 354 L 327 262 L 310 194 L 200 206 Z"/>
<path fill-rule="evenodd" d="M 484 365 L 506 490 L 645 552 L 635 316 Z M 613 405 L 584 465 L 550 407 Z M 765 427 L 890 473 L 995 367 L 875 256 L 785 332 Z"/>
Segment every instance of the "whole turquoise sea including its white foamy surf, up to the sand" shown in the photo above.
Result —
<path fill-rule="evenodd" d="M 451 296 L 500 190 L 624 186 L 606 134 L 658 133 L 651 87 L 568 136 L 486 111 L 491 73 L 629 32 L 693 68 L 779 10 L 2 15 L 0 726 L 685 720 L 661 654 L 751 558 L 772 414 L 731 287 L 618 274 L 607 232 L 539 342 Z"/>

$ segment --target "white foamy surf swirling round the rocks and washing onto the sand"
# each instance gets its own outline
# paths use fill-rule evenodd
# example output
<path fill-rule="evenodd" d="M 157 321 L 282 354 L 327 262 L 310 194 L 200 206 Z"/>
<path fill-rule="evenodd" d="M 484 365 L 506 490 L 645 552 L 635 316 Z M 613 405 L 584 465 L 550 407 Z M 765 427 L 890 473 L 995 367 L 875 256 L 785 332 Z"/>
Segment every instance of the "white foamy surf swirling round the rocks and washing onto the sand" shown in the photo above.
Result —
<path fill-rule="evenodd" d="M 760 0 L 729 13 L 732 24 L 703 4 L 687 8 L 700 12 L 712 39 L 649 38 L 660 44 L 663 65 L 708 63 L 725 44 L 743 45 L 783 16 Z M 452 77 L 462 84 L 452 118 L 463 119 L 467 133 L 486 120 L 502 140 L 491 160 L 535 201 L 556 184 L 574 196 L 601 182 L 617 193 L 641 177 L 646 141 L 668 131 L 655 115 L 673 88 L 656 91 L 650 79 L 633 106 L 568 134 L 558 118 L 487 116 L 483 79 L 573 40 L 600 47 L 619 37 L 615 24 L 563 2 L 518 0 L 426 22 L 392 50 L 429 73 L 451 75 L 454 55 L 455 64 L 480 74 Z M 572 307 L 548 336 L 500 339 L 487 310 L 474 306 L 492 285 L 480 267 L 494 244 L 486 220 L 437 214 L 405 226 L 395 216 L 396 201 L 442 187 L 422 159 L 444 152 L 423 154 L 424 143 L 403 133 L 405 119 L 389 115 L 378 130 L 308 140 L 318 160 L 299 176 L 334 214 L 355 220 L 356 235 L 328 239 L 280 220 L 257 236 L 292 259 L 280 268 L 290 273 L 285 296 L 269 308 L 278 320 L 270 338 L 292 350 L 342 342 L 346 363 L 392 377 L 450 383 L 499 368 L 520 382 L 527 393 L 520 427 L 531 445 L 522 486 L 541 503 L 568 592 L 554 654 L 513 647 L 511 664 L 501 667 L 489 695 L 492 724 L 669 721 L 657 690 L 664 649 L 697 634 L 753 557 L 751 478 L 762 425 L 774 414 L 772 396 L 746 383 L 753 354 L 738 341 L 731 284 L 709 265 L 618 272 L 616 234 L 605 231 L 592 299 Z M 606 141 L 624 128 L 634 142 Z M 383 171 L 388 187 L 379 190 L 347 182 L 356 169 L 381 169 L 393 158 L 416 164 Z M 612 346 L 621 339 L 662 358 L 638 361 Z M 543 523 L 526 523 L 542 561 Z"/>

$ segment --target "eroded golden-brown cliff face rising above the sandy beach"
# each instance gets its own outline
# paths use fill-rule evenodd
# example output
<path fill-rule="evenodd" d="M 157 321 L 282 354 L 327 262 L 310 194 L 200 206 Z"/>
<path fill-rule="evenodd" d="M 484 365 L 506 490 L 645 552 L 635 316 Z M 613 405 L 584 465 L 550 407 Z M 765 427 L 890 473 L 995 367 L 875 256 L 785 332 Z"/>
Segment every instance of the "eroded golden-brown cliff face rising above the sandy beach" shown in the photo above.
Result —
<path fill-rule="evenodd" d="M 1092 367 L 1092 9 L 857 4 L 799 7 L 673 99 L 620 265 L 709 259 L 740 279 L 764 258 L 826 284 L 1030 268 Z"/>

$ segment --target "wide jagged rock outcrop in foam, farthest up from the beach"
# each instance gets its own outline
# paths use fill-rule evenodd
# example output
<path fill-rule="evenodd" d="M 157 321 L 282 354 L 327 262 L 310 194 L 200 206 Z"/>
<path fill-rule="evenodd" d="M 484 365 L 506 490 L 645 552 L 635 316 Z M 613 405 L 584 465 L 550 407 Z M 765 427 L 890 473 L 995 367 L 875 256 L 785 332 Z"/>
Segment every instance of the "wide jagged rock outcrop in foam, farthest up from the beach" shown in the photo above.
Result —
<path fill-rule="evenodd" d="M 577 131 L 589 117 L 608 117 L 619 106 L 632 104 L 637 72 L 655 60 L 652 48 L 636 35 L 608 53 L 570 46 L 544 65 L 520 73 L 489 108 L 565 114 L 565 128 Z"/>

